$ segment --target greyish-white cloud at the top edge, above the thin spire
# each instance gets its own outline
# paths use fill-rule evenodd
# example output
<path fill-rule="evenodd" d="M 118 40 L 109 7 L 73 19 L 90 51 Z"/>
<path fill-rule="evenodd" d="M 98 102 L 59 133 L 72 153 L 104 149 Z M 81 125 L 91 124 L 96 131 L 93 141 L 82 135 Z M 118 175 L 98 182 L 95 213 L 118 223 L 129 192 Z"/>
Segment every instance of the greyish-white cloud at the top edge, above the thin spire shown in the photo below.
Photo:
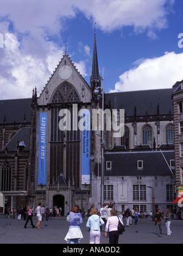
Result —
<path fill-rule="evenodd" d="M 148 29 L 153 37 L 154 29 L 167 28 L 166 15 L 173 4 L 174 0 L 93 0 L 88 5 L 87 1 L 77 0 L 77 7 L 103 31 L 134 26 L 135 32 Z"/>

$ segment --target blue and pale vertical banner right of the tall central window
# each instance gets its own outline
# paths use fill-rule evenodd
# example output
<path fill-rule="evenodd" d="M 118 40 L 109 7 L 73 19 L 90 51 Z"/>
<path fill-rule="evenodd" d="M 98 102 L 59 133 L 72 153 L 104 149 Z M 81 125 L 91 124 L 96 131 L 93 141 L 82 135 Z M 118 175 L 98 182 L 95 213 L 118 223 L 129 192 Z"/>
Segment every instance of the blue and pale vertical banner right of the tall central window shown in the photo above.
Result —
<path fill-rule="evenodd" d="M 82 110 L 82 184 L 90 184 L 90 110 Z"/>

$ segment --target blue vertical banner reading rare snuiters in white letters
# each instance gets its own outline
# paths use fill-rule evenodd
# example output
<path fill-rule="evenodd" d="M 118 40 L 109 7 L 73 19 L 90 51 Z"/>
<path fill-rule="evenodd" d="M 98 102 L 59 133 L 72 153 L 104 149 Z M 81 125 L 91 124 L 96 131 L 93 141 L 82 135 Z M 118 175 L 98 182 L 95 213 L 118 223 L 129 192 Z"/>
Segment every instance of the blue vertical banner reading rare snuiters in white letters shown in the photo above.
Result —
<path fill-rule="evenodd" d="M 38 185 L 46 185 L 46 128 L 47 113 L 40 113 L 38 149 Z"/>

